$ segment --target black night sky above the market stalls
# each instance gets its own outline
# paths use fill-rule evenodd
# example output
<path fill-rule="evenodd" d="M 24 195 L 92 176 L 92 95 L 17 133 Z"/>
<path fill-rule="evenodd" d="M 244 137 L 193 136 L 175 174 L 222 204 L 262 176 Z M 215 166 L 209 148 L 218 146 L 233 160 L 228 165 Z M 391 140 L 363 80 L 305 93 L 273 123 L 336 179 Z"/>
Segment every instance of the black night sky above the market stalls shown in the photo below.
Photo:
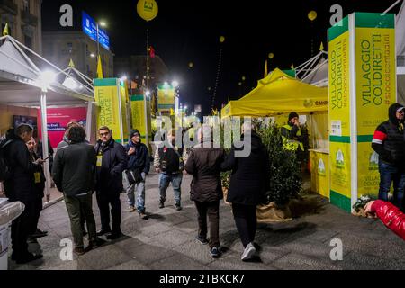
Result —
<path fill-rule="evenodd" d="M 149 43 L 170 70 L 167 81 L 180 83 L 181 102 L 193 107 L 202 104 L 210 112 L 220 47 L 222 66 L 215 106 L 220 108 L 228 98 L 237 100 L 256 87 L 263 78 L 265 61 L 270 52 L 269 70 L 289 69 L 311 58 L 323 41 L 327 48 L 329 8 L 341 4 L 344 15 L 354 11 L 383 13 L 395 0 L 294 0 L 294 1 L 225 1 L 225 0 L 156 0 L 157 18 L 149 23 L 136 12 L 137 0 L 68 1 L 43 0 L 44 31 L 67 31 L 59 26 L 59 7 L 71 4 L 75 23 L 85 10 L 94 19 L 108 23 L 112 52 L 117 56 L 145 54 L 146 29 Z M 392 10 L 398 13 L 400 5 Z M 308 13 L 315 10 L 318 18 L 311 23 Z M 76 30 L 80 25 L 76 25 Z M 220 36 L 226 38 L 220 44 Z M 188 63 L 193 62 L 193 68 Z M 242 76 L 246 76 L 244 85 Z M 211 91 L 208 87 L 212 87 Z"/>

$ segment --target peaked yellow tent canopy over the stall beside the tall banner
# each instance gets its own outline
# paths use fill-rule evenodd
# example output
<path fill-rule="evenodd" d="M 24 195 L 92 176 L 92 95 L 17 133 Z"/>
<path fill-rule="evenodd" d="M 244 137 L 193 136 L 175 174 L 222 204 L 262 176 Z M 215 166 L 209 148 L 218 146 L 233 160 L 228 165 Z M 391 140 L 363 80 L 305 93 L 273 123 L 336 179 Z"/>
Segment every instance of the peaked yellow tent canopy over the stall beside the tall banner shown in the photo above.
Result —
<path fill-rule="evenodd" d="M 328 112 L 328 88 L 302 83 L 275 69 L 258 81 L 257 87 L 238 101 L 230 101 L 221 111 L 230 116 L 266 117 L 279 113 Z"/>

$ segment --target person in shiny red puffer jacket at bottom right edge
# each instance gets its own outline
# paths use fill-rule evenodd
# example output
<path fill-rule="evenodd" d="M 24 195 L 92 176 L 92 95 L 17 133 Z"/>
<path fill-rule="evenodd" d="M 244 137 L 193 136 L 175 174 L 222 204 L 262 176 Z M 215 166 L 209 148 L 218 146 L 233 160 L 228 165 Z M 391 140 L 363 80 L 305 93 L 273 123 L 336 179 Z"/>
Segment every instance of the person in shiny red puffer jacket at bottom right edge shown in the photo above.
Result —
<path fill-rule="evenodd" d="M 381 200 L 368 202 L 365 213 L 376 214 L 386 227 L 405 240 L 405 214 L 392 203 Z"/>

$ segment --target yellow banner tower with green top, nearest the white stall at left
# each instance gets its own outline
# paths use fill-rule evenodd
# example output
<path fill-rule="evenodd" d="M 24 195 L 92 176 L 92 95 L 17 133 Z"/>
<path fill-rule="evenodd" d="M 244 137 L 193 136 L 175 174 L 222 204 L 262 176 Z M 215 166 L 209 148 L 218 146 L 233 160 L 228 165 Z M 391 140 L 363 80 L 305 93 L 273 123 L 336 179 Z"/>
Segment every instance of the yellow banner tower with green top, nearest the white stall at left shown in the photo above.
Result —
<path fill-rule="evenodd" d="M 112 130 L 115 141 L 123 144 L 128 141 L 124 134 L 126 113 L 122 107 L 120 82 L 116 78 L 94 79 L 97 127 L 107 126 Z"/>

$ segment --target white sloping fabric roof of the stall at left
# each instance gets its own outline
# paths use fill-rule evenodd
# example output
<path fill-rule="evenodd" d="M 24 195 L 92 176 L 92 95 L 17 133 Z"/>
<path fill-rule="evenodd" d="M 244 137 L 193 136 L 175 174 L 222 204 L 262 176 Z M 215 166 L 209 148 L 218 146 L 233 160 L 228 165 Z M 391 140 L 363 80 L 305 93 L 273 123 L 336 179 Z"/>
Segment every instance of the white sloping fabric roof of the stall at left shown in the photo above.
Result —
<path fill-rule="evenodd" d="M 41 78 L 47 71 L 55 76 L 48 85 L 47 103 L 49 105 L 79 104 L 94 101 L 93 88 L 74 81 L 76 87 L 66 85 L 69 77 L 64 71 L 45 58 L 25 47 L 10 36 L 0 38 L 0 103 L 19 106 L 39 106 Z M 29 57 L 30 55 L 31 57 Z"/>

